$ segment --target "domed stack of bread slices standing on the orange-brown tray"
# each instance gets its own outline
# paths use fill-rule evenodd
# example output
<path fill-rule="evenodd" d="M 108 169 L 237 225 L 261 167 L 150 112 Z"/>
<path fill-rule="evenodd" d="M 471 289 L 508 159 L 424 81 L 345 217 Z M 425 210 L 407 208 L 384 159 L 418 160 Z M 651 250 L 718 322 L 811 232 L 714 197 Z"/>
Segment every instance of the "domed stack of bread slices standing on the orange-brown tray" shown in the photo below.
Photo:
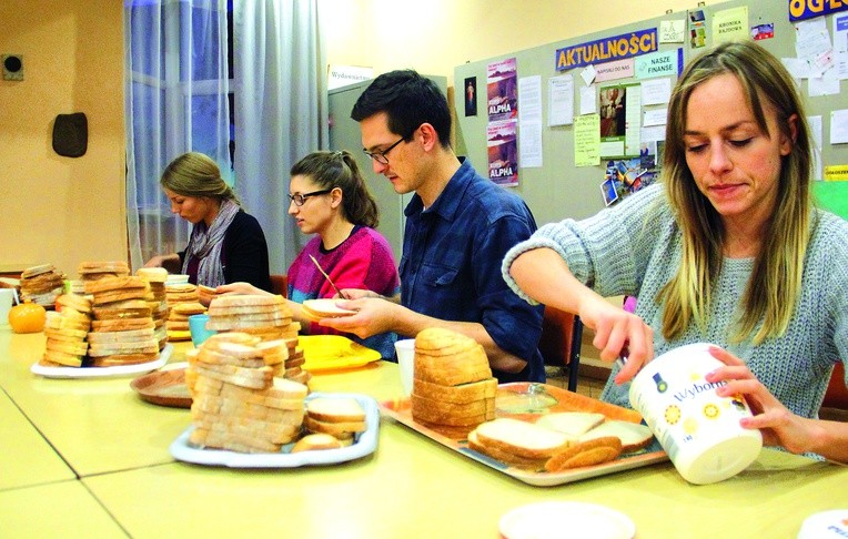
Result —
<path fill-rule="evenodd" d="M 495 418 L 497 379 L 485 350 L 471 337 L 437 327 L 418 333 L 413 377 L 415 421 L 463 439 Z"/>

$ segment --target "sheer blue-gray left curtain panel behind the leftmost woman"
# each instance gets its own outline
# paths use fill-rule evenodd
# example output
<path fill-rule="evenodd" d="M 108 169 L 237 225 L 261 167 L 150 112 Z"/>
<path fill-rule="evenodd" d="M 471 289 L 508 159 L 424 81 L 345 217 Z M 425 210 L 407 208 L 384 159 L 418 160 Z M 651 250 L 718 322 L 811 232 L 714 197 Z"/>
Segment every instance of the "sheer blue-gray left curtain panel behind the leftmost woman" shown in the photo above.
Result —
<path fill-rule="evenodd" d="M 159 177 L 189 151 L 214 159 L 232 183 L 225 0 L 127 0 L 124 61 L 127 218 L 133 268 L 185 247 Z"/>

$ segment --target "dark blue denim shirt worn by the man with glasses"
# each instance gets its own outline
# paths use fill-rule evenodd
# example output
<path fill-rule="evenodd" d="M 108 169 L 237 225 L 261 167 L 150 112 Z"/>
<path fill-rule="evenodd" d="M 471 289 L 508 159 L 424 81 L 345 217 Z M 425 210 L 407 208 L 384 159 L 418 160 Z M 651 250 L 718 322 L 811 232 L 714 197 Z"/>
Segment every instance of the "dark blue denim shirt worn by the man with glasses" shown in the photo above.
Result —
<path fill-rule="evenodd" d="M 538 352 L 544 307 L 519 298 L 501 276 L 506 252 L 536 230 L 517 195 L 463 162 L 426 211 L 415 194 L 404 210 L 401 303 L 444 321 L 483 324 L 492 339 L 527 362 L 498 382 L 545 382 Z"/>

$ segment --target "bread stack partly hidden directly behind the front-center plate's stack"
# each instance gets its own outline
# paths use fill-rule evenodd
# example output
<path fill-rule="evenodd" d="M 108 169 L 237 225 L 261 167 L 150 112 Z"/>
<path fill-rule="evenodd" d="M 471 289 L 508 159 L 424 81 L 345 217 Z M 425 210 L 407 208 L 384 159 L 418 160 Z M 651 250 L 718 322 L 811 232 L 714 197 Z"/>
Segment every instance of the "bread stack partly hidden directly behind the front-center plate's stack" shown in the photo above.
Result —
<path fill-rule="evenodd" d="M 282 340 L 287 347 L 287 358 L 281 375 L 306 384 L 312 374 L 302 368 L 303 349 L 297 346 L 300 324 L 292 322 L 292 312 L 282 296 L 244 294 L 218 296 L 209 304 L 206 327 L 220 333 L 241 332 L 262 340 Z"/>

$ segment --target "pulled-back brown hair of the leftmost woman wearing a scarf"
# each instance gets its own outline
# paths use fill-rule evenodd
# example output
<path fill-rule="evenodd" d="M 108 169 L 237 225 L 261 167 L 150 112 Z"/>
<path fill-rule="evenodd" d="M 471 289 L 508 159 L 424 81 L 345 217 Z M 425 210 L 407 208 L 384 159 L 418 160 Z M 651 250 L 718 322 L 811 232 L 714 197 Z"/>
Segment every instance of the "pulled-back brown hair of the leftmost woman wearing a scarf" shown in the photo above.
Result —
<path fill-rule="evenodd" d="M 168 164 L 159 184 L 182 196 L 231 200 L 241 205 L 232 187 L 221 177 L 221 169 L 209 155 L 189 152 Z"/>

